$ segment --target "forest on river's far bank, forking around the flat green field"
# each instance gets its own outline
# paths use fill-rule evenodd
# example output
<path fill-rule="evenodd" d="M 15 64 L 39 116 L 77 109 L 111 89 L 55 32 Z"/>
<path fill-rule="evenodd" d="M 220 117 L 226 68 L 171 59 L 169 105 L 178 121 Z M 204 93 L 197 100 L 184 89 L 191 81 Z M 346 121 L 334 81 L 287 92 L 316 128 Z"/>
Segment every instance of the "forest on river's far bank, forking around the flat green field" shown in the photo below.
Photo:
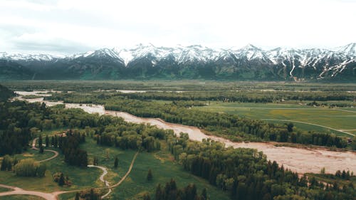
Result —
<path fill-rule="evenodd" d="M 236 98 L 248 97 L 251 100 Z M 225 100 L 241 102 L 263 102 L 261 99 L 270 97 L 273 100 L 354 100 L 355 94 L 337 92 L 305 92 L 292 93 L 287 91 L 241 91 L 236 92 L 184 92 L 184 93 L 99 93 L 98 95 L 83 95 L 80 93 L 58 93 L 49 99 L 64 100 L 65 102 L 98 103 L 105 105 L 106 110 L 129 112 L 140 117 L 158 117 L 162 120 L 182 125 L 192 125 L 204 128 L 215 135 L 229 137 L 231 140 L 241 141 L 276 141 L 300 144 L 316 144 L 328 147 L 343 148 L 347 142 L 335 135 L 324 135 L 318 132 L 293 131 L 288 125 L 277 125 L 251 120 L 237 115 L 225 113 L 204 112 L 187 109 L 187 107 L 201 106 L 204 102 L 196 100 Z M 258 100 L 258 98 L 261 98 Z M 172 103 L 157 103 L 151 100 L 172 100 Z M 270 102 L 266 100 L 266 102 Z"/>

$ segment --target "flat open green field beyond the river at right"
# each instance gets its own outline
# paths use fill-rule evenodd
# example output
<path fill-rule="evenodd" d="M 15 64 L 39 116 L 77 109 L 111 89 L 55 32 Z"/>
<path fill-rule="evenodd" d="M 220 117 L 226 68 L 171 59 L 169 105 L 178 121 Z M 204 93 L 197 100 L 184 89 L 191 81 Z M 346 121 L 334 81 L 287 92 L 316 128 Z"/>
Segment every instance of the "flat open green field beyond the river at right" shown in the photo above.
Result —
<path fill-rule="evenodd" d="M 320 132 L 335 133 L 340 136 L 347 136 L 345 133 L 337 130 L 355 134 L 356 130 L 356 112 L 354 108 L 348 109 L 330 109 L 326 107 L 310 107 L 307 105 L 298 105 L 295 103 L 239 103 L 239 102 L 211 102 L 204 107 L 194 107 L 199 110 L 210 112 L 226 112 L 229 114 L 249 117 L 258 120 L 269 120 L 271 122 L 281 122 L 276 120 L 293 120 L 295 127 L 300 130 L 315 130 Z M 347 112 L 351 111 L 351 112 Z M 315 125 L 304 124 L 303 122 Z M 319 127 L 317 125 L 325 126 Z M 335 130 L 330 130 L 331 127 Z"/>

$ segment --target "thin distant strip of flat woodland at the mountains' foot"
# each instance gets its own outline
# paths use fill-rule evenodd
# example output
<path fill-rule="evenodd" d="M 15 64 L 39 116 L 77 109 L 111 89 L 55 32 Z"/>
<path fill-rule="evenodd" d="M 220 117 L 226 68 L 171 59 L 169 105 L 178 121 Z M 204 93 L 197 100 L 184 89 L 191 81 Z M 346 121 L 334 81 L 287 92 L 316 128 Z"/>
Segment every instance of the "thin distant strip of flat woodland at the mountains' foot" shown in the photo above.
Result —
<path fill-rule="evenodd" d="M 94 90 L 112 91 L 115 90 L 148 90 L 148 91 L 350 91 L 355 90 L 354 84 L 345 83 L 313 83 L 313 82 L 246 82 L 246 81 L 204 81 L 197 83 L 197 80 L 184 81 L 136 81 L 136 80 L 119 80 L 119 81 L 46 81 L 43 84 L 41 80 L 30 81 L 7 81 L 3 85 L 9 86 L 14 90 L 32 91 L 32 90 L 58 90 L 58 91 L 80 91 L 90 92 Z"/>

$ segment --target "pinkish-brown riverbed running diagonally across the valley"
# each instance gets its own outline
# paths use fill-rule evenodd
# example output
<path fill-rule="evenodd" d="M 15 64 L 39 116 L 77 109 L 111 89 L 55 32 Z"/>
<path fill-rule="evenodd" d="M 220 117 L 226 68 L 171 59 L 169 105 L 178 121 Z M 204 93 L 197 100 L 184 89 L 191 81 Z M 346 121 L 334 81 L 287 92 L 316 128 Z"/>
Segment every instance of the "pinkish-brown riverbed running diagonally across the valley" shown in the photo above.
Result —
<path fill-rule="evenodd" d="M 30 102 L 46 102 L 46 105 L 57 105 L 63 102 L 48 102 L 43 101 L 43 98 L 31 99 Z M 127 122 L 134 123 L 149 123 L 150 125 L 156 125 L 162 129 L 171 129 L 174 133 L 186 132 L 191 140 L 201 141 L 202 139 L 216 140 L 224 142 L 226 147 L 245 147 L 258 149 L 267 155 L 267 159 L 275 160 L 278 164 L 283 164 L 285 168 L 291 169 L 294 172 L 300 174 L 313 172 L 319 173 L 320 170 L 325 167 L 325 171 L 328 173 L 335 173 L 337 170 L 350 170 L 350 172 L 356 172 L 356 152 L 333 152 L 324 148 L 295 148 L 295 147 L 276 147 L 273 142 L 231 142 L 221 137 L 212 135 L 205 135 L 197 127 L 190 127 L 184 125 L 176 125 L 168 122 L 164 122 L 160 119 L 154 118 L 142 118 L 130 115 L 127 112 L 115 112 L 105 110 L 103 105 L 80 105 L 75 103 L 67 103 L 67 108 L 75 107 L 82 108 L 85 112 L 98 113 L 99 115 L 112 115 L 122 117 Z"/>

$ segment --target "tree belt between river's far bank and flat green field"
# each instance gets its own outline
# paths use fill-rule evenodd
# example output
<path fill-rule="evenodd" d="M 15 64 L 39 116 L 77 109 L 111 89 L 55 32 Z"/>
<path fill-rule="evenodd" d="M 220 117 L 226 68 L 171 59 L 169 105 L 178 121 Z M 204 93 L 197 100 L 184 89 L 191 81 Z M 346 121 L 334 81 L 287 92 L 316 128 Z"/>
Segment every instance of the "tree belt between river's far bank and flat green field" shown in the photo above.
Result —
<path fill-rule="evenodd" d="M 155 93 L 165 95 L 167 99 L 175 93 Z M 181 95 L 183 93 L 178 93 Z M 145 95 L 140 93 L 136 95 Z M 276 141 L 298 144 L 315 144 L 327 147 L 345 148 L 347 142 L 341 137 L 321 132 L 305 132 L 293 129 L 293 124 L 278 125 L 261 120 L 226 113 L 204 112 L 189 109 L 192 106 L 204 105 L 200 101 L 174 100 L 158 103 L 154 100 L 130 99 L 127 96 L 81 95 L 76 93 L 57 93 L 47 100 L 63 100 L 64 102 L 95 103 L 105 105 L 106 110 L 129 112 L 139 117 L 157 117 L 166 122 L 200 127 L 214 135 L 226 137 L 233 141 Z"/>

